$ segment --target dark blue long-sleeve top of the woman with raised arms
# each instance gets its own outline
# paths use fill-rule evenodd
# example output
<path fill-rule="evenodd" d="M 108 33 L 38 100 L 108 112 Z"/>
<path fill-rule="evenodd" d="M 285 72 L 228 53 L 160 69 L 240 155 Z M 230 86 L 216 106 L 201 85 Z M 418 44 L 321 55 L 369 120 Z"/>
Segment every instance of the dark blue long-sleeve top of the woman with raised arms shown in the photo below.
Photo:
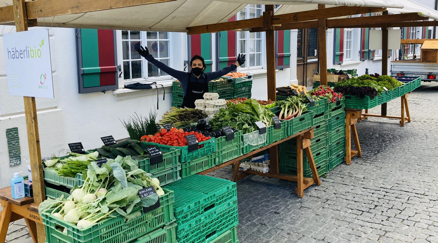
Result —
<path fill-rule="evenodd" d="M 189 73 L 170 68 L 170 67 L 166 66 L 166 64 L 156 60 L 150 54 L 148 56 L 146 56 L 146 60 L 148 60 L 149 62 L 151 62 L 156 67 L 158 67 L 159 69 L 161 69 L 165 73 L 169 74 L 170 76 L 180 80 L 181 85 L 183 86 L 184 96 L 186 95 Z M 191 82 L 198 82 L 198 83 L 208 83 L 211 80 L 217 79 L 217 78 L 219 78 L 227 73 L 230 73 L 231 71 L 233 71 L 236 68 L 237 68 L 236 64 L 231 64 L 230 66 L 224 67 L 223 69 L 220 69 L 219 71 L 202 73 L 201 76 L 199 77 L 199 79 L 196 76 L 194 76 L 193 73 L 190 73 L 190 81 Z M 205 75 L 207 75 L 207 77 L 205 77 Z M 207 80 L 207 78 L 208 78 L 208 80 Z"/>

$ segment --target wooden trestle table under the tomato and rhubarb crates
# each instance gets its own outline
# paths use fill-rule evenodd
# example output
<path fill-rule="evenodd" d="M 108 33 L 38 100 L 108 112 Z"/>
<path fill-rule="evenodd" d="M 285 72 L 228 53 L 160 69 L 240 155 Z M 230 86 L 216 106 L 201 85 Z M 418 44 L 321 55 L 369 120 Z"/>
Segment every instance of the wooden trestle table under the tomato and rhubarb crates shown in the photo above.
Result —
<path fill-rule="evenodd" d="M 205 175 L 208 174 L 214 170 L 234 165 L 233 170 L 233 179 L 232 181 L 238 181 L 244 177 L 247 177 L 250 174 L 260 175 L 260 176 L 266 176 L 266 177 L 272 177 L 272 178 L 278 178 L 282 180 L 287 181 L 296 181 L 297 182 L 297 188 L 295 188 L 295 193 L 298 194 L 299 198 L 302 198 L 304 196 L 304 189 L 307 187 L 310 187 L 312 184 L 317 184 L 318 186 L 321 185 L 321 181 L 319 180 L 318 170 L 315 166 L 315 161 L 313 159 L 312 151 L 310 149 L 310 139 L 314 137 L 313 133 L 313 127 L 308 128 L 302 132 L 299 132 L 295 135 L 292 135 L 290 137 L 287 137 L 286 139 L 282 139 L 278 142 L 274 142 L 268 146 L 262 147 L 260 149 L 254 150 L 250 153 L 244 154 L 240 157 L 237 157 L 236 159 L 230 160 L 228 162 L 222 163 L 218 166 L 212 167 L 208 170 L 201 171 L 198 174 Z M 278 145 L 282 142 L 286 142 L 290 139 L 296 138 L 297 139 L 297 175 L 289 175 L 289 174 L 280 174 L 279 173 L 279 163 L 278 163 Z M 270 155 L 270 166 L 269 166 L 269 172 L 268 173 L 261 173 L 255 170 L 247 170 L 241 174 L 239 174 L 239 167 L 240 167 L 240 161 L 245 159 L 246 157 L 252 156 L 256 153 L 259 153 L 265 149 L 269 150 Z M 308 178 L 303 176 L 303 149 L 306 151 L 307 160 L 309 161 L 310 168 L 312 170 L 312 176 L 313 178 Z"/>

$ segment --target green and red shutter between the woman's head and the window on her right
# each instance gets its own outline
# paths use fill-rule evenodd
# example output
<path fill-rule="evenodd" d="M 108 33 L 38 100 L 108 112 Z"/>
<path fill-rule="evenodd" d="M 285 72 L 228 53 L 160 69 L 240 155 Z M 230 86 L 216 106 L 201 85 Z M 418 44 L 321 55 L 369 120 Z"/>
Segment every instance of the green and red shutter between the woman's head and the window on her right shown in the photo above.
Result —
<path fill-rule="evenodd" d="M 231 17 L 228 21 L 235 21 L 236 16 Z M 236 31 L 220 31 L 217 34 L 218 41 L 218 69 L 223 69 L 226 66 L 230 66 L 236 63 L 237 60 L 237 39 Z M 247 57 L 248 58 L 248 57 Z"/>

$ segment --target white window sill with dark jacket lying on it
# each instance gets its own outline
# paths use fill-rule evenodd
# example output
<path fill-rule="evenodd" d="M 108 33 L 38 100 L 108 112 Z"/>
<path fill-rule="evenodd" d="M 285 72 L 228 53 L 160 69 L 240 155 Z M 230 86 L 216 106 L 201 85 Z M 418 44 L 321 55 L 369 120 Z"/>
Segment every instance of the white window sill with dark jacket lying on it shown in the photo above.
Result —
<path fill-rule="evenodd" d="M 161 85 L 164 86 L 165 92 L 170 94 L 172 92 L 172 83 L 173 80 L 160 82 L 158 85 L 152 85 L 152 89 L 148 89 L 148 90 L 131 90 L 131 89 L 119 88 L 117 90 L 113 90 L 113 95 L 116 97 L 116 100 L 118 101 L 118 100 L 124 100 L 124 99 L 135 98 L 135 97 L 157 95 L 157 89 L 158 89 L 158 94 L 162 94 L 163 89 Z"/>

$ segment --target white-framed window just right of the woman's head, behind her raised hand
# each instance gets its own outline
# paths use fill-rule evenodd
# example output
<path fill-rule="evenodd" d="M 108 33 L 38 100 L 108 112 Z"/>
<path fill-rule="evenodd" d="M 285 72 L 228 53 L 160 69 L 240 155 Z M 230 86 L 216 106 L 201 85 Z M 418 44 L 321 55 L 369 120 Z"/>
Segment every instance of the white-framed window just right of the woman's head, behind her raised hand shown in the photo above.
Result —
<path fill-rule="evenodd" d="M 237 14 L 237 20 L 260 17 L 263 12 L 263 5 L 249 4 Z M 246 62 L 242 68 L 260 69 L 263 67 L 262 46 L 263 38 L 261 32 L 250 33 L 240 31 L 237 35 L 237 52 L 246 54 Z"/>

